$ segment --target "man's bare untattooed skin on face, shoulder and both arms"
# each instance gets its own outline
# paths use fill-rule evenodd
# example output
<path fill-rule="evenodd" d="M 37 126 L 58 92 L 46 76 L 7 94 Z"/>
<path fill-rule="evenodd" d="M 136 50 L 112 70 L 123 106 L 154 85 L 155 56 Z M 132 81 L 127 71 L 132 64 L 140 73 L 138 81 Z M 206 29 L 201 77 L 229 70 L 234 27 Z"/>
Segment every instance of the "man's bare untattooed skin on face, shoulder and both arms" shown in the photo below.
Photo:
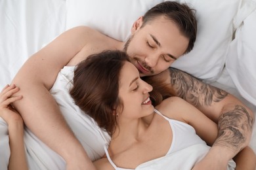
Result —
<path fill-rule="evenodd" d="M 173 22 L 166 22 L 163 18 L 159 18 L 159 20 L 151 22 L 150 25 L 146 25 L 140 29 L 141 24 L 142 18 L 139 18 L 131 28 L 133 39 L 130 41 L 127 53 L 131 58 L 134 58 L 132 62 L 137 69 L 139 69 L 140 76 L 161 73 L 161 71 L 167 69 L 175 60 L 171 58 L 166 59 L 166 54 L 171 54 L 171 56 L 179 58 L 179 56 L 184 53 L 188 40 L 177 31 L 178 28 Z M 170 29 L 175 33 L 167 34 L 170 32 Z M 154 35 L 161 46 L 151 44 L 155 41 L 150 40 L 150 37 L 152 37 L 150 35 Z M 148 43 L 148 41 L 150 42 Z M 169 44 L 168 47 L 166 44 Z M 49 90 L 53 86 L 58 72 L 64 65 L 77 65 L 77 63 L 87 58 L 90 54 L 101 52 L 102 50 L 123 50 L 124 46 L 125 42 L 111 39 L 89 27 L 75 27 L 74 29 L 62 33 L 62 35 L 45 46 L 45 48 L 33 54 L 12 81 L 13 84 L 20 87 L 18 94 L 22 94 L 23 96 L 21 100 L 14 102 L 14 107 L 22 115 L 26 126 L 28 126 L 41 141 L 64 158 L 67 163 L 67 169 L 95 168 L 83 150 L 83 147 L 79 141 L 75 139 L 74 134 L 64 121 L 58 109 L 58 105 L 51 96 L 51 93 L 49 93 Z M 135 59 L 135 56 L 140 58 L 140 61 Z M 146 65 L 142 64 L 142 61 L 146 63 Z M 150 72 L 148 72 L 149 70 Z M 176 81 L 179 82 L 182 80 L 181 78 Z M 194 79 L 192 81 L 194 81 Z M 171 81 L 169 81 L 169 83 L 170 82 Z M 198 86 L 205 86 L 202 82 L 197 83 Z M 176 86 L 172 84 L 171 86 L 174 92 L 178 94 L 179 87 L 183 88 L 184 84 L 176 84 Z M 211 86 L 209 86 L 209 88 L 211 89 Z M 184 92 L 184 95 L 190 94 L 190 91 L 191 90 Z M 202 98 L 208 97 L 205 95 L 204 91 L 195 90 L 195 92 L 195 95 Z M 216 93 L 211 90 L 209 93 L 212 93 L 211 97 L 214 99 Z M 216 147 L 212 149 L 202 163 L 198 165 L 198 167 L 218 165 L 219 167 L 215 169 L 221 169 L 226 167 L 227 160 L 230 160 L 230 158 L 235 156 L 249 143 L 254 115 L 251 110 L 245 107 L 238 99 L 229 94 L 223 96 L 223 99 L 219 99 L 219 101 L 212 100 L 209 105 L 204 105 L 204 101 L 201 101 L 201 98 L 199 101 L 200 106 L 198 107 L 198 105 L 196 105 L 196 107 L 204 113 L 210 110 L 209 117 L 215 117 L 219 120 L 218 122 L 226 118 L 226 116 L 221 115 L 230 111 L 234 112 L 234 114 L 239 114 L 244 120 L 247 120 L 247 122 L 245 121 L 246 128 L 240 125 L 236 127 L 244 138 L 244 140 L 236 145 L 238 147 L 230 143 L 225 143 L 227 139 L 230 139 L 228 135 L 220 135 L 215 144 Z M 244 107 L 245 112 L 242 112 L 242 114 L 240 112 L 236 113 L 236 105 Z M 246 114 L 246 112 L 248 114 Z M 226 126 L 219 128 L 219 134 L 228 134 L 223 133 L 226 129 L 230 131 Z M 58 134 L 62 135 L 59 136 Z M 66 143 L 62 143 L 62 141 L 66 141 Z"/>

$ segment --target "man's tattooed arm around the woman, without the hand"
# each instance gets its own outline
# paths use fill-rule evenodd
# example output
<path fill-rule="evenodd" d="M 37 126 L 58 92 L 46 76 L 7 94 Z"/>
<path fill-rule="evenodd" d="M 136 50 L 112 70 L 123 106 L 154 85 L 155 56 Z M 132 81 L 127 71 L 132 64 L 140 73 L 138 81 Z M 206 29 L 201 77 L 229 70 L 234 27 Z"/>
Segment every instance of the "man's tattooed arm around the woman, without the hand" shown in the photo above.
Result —
<path fill-rule="evenodd" d="M 249 144 L 254 114 L 241 101 L 177 69 L 170 67 L 169 75 L 174 95 L 182 97 L 217 122 L 219 135 L 213 147 L 226 148 L 232 158 Z"/>

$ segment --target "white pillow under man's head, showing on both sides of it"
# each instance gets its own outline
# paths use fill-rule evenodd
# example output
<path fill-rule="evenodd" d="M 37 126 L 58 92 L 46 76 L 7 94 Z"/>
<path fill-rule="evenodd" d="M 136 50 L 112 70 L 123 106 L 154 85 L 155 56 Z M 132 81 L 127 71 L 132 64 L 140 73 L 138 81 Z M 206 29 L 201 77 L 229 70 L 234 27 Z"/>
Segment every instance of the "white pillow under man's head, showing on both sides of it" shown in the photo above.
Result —
<path fill-rule="evenodd" d="M 158 1 L 145 0 L 67 0 L 67 29 L 89 25 L 119 41 L 129 37 L 130 29 L 146 10 Z M 197 10 L 198 37 L 194 50 L 173 63 L 194 76 L 216 80 L 226 59 L 226 50 L 234 29 L 232 18 L 241 0 L 176 0 Z"/>

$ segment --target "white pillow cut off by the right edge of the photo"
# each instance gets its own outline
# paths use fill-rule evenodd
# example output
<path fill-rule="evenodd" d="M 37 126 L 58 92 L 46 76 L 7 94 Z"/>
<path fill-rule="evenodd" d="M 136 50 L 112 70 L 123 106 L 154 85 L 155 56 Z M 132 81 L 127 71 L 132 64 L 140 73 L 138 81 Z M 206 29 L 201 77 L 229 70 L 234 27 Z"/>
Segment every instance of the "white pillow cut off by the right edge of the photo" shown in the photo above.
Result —
<path fill-rule="evenodd" d="M 256 3 L 254 4 L 256 5 Z M 226 69 L 240 94 L 256 106 L 256 10 L 237 29 L 230 44 Z"/>

